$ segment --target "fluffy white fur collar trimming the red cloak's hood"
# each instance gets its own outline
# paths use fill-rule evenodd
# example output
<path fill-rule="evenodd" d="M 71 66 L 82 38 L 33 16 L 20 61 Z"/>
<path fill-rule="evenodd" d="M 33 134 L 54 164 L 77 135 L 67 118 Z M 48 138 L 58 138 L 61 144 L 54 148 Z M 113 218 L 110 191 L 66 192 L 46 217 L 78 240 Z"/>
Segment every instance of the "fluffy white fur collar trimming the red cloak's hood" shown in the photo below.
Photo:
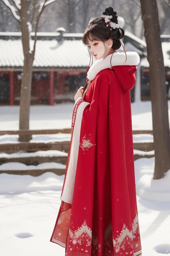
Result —
<path fill-rule="evenodd" d="M 127 55 L 127 60 L 126 60 L 126 55 Z M 97 73 L 99 73 L 101 70 L 104 70 L 106 68 L 110 68 L 111 66 L 118 66 L 118 65 L 137 65 L 140 62 L 140 57 L 137 52 L 126 52 L 126 55 L 124 52 L 114 52 L 113 56 L 112 54 L 109 54 L 105 59 L 101 58 L 91 67 L 89 68 L 87 72 L 87 78 L 92 81 Z M 110 65 L 110 58 L 111 59 L 111 65 Z M 126 60 L 126 62 L 125 62 Z M 125 63 L 124 63 L 125 62 Z"/>

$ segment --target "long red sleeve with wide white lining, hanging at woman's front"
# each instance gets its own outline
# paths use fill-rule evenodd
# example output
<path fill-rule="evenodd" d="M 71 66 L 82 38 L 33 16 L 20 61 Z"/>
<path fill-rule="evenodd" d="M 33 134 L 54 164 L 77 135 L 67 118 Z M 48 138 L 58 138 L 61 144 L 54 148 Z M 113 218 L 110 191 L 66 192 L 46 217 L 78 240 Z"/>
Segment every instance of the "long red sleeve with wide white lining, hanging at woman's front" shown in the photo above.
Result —
<path fill-rule="evenodd" d="M 88 168 L 89 155 L 91 159 L 95 159 L 97 119 L 107 116 L 109 77 L 103 72 L 96 76 L 93 83 L 94 91 L 91 103 L 79 97 L 75 101 L 73 109 L 69 161 L 66 166 L 67 171 L 61 195 L 61 200 L 68 203 L 72 203 L 73 200 L 77 164 L 79 169 L 84 168 L 84 166 L 80 166 L 82 163 L 86 163 Z M 78 161 L 78 159 L 82 160 Z M 84 173 L 86 172 L 84 171 Z"/>

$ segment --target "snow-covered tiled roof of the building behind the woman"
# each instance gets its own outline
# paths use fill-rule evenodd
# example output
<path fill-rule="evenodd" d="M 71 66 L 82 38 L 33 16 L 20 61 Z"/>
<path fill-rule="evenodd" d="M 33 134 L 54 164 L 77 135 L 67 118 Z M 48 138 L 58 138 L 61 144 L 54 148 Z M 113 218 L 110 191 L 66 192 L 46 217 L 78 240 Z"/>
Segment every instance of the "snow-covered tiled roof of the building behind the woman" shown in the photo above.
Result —
<path fill-rule="evenodd" d="M 64 40 L 60 40 L 60 32 L 38 32 L 37 36 L 34 68 L 76 69 L 88 67 L 90 56 L 82 43 L 83 33 L 63 33 Z M 125 31 L 125 36 L 129 44 L 146 51 L 144 40 L 128 31 Z M 31 33 L 31 37 L 34 37 L 34 32 Z M 161 38 L 164 63 L 165 66 L 170 67 L 169 36 L 161 35 Z M 33 40 L 31 41 L 33 44 Z M 137 51 L 137 48 L 133 48 L 133 50 Z M 0 67 L 22 68 L 23 59 L 21 32 L 0 32 Z M 146 57 L 141 58 L 141 66 L 149 67 Z"/>

